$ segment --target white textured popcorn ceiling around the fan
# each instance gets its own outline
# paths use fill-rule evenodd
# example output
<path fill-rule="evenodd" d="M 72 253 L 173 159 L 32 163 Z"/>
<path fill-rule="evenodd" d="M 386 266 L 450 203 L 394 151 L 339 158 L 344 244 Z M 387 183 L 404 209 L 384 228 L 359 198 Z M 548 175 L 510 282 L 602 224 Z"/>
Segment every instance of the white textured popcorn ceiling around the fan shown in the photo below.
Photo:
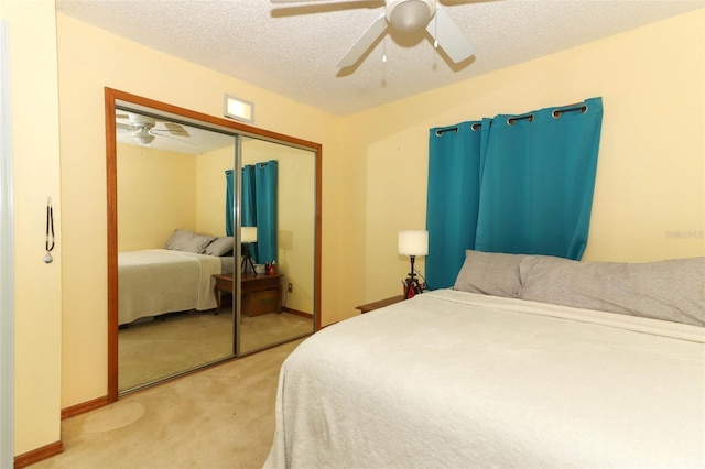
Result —
<path fill-rule="evenodd" d="M 438 4 L 474 44 L 470 59 L 451 63 L 425 32 L 394 33 L 356 66 L 338 69 L 383 1 L 56 0 L 64 14 L 339 116 L 703 8 L 705 0 Z"/>

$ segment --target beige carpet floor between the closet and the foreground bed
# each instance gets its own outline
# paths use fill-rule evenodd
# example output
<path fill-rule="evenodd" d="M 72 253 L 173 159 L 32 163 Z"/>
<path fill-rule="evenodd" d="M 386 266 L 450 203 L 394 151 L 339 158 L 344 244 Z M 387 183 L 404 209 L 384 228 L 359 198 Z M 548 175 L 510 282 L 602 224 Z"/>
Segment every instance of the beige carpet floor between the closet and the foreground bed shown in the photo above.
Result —
<path fill-rule="evenodd" d="M 279 370 L 302 339 L 214 366 L 62 422 L 45 468 L 261 468 Z"/>

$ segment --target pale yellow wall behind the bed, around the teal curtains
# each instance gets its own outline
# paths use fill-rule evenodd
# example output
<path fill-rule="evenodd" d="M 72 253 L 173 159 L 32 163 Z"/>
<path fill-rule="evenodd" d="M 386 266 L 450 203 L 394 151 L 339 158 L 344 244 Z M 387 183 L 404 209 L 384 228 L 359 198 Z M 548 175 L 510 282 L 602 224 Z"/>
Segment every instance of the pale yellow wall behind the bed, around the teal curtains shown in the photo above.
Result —
<path fill-rule="evenodd" d="M 704 24 L 701 9 L 347 117 L 344 164 L 359 198 L 346 241 L 365 253 L 351 269 L 365 279 L 355 302 L 401 293 L 409 260 L 397 231 L 425 226 L 430 128 L 594 96 L 605 116 L 584 259 L 704 255 Z"/>

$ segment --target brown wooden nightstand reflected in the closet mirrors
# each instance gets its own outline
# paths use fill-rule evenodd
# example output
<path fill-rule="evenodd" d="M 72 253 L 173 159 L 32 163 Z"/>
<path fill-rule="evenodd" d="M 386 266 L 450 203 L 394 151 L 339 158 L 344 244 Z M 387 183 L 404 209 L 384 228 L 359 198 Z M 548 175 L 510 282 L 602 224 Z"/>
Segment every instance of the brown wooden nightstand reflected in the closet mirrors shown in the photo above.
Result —
<path fill-rule="evenodd" d="M 259 316 L 267 313 L 282 312 L 281 274 L 242 275 L 240 283 L 240 306 L 246 316 Z M 232 274 L 213 276 L 215 285 L 213 294 L 220 309 L 220 292 L 232 294 Z"/>

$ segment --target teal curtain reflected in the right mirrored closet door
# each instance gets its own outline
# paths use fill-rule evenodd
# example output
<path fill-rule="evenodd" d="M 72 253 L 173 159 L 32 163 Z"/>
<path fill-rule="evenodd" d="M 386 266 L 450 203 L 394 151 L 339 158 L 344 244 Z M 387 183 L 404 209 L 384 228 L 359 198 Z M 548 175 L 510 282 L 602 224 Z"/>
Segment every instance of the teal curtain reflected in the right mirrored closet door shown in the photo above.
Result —
<path fill-rule="evenodd" d="M 257 227 L 257 242 L 250 244 L 250 254 L 260 264 L 276 260 L 276 161 L 242 167 L 240 225 Z"/>

